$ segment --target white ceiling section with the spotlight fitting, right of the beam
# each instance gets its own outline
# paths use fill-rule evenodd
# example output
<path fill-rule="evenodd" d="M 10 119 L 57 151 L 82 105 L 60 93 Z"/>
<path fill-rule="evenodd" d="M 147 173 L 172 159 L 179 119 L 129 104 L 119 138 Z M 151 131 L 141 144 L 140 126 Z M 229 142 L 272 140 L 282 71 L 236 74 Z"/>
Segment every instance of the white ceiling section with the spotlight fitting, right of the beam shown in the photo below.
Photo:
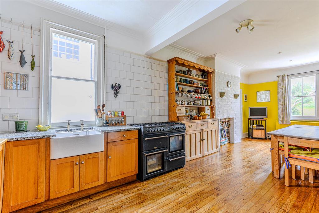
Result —
<path fill-rule="evenodd" d="M 254 31 L 236 33 L 245 19 L 254 20 Z M 246 1 L 174 44 L 219 53 L 246 65 L 247 73 L 318 61 L 319 1 Z"/>

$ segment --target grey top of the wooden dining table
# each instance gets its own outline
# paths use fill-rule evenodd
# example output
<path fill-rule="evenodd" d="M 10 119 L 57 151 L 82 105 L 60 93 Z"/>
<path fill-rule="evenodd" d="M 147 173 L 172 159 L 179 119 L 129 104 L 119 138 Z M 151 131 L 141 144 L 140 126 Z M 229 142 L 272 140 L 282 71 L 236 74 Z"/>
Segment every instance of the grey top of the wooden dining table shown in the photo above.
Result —
<path fill-rule="evenodd" d="M 319 126 L 292 125 L 267 134 L 319 141 Z"/>

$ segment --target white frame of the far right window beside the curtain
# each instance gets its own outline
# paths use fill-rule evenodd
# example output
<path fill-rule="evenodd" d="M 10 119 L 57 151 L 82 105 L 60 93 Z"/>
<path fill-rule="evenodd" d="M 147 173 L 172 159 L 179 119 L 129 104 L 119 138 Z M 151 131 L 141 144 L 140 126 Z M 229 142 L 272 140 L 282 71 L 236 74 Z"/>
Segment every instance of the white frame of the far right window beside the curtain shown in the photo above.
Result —
<path fill-rule="evenodd" d="M 290 99 L 291 99 L 291 79 L 294 78 L 301 78 L 301 77 L 307 77 L 307 76 L 314 76 L 315 75 L 315 116 L 293 116 L 291 114 L 291 106 L 290 106 Z M 295 75 L 289 75 L 288 76 L 289 81 L 289 113 L 290 113 L 290 120 L 302 120 L 302 121 L 317 121 L 319 120 L 319 72 L 308 72 L 308 73 L 301 73 L 301 74 L 295 74 Z M 303 95 L 301 95 L 303 97 Z M 300 96 L 300 97 L 301 97 Z M 307 95 L 305 95 L 307 96 Z M 293 96 L 294 97 L 294 96 Z"/>

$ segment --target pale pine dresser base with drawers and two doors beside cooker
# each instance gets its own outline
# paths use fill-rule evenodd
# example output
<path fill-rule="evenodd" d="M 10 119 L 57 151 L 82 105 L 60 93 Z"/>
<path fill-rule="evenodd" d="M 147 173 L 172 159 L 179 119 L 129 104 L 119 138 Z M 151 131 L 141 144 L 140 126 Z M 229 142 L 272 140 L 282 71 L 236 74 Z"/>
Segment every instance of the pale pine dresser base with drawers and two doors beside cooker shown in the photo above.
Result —
<path fill-rule="evenodd" d="M 219 151 L 219 119 L 185 122 L 186 161 Z"/>

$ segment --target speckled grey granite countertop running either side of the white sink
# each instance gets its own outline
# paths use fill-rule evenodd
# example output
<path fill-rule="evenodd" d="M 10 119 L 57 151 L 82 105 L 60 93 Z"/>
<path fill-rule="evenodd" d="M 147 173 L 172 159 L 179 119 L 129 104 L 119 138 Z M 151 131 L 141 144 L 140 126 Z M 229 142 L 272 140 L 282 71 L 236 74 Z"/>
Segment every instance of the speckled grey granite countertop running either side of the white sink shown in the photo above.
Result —
<path fill-rule="evenodd" d="M 74 127 L 70 128 L 71 131 L 78 131 L 81 128 Z M 100 131 L 101 133 L 107 132 L 120 132 L 120 131 L 128 131 L 128 130 L 137 130 L 138 127 L 123 125 L 123 126 L 102 126 L 102 127 L 85 127 L 84 129 L 95 129 Z M 38 131 L 38 130 L 30 130 L 29 132 L 23 133 L 13 133 L 13 132 L 3 132 L 0 133 L 0 138 L 8 139 L 8 141 L 21 141 L 28 139 L 38 139 L 38 138 L 51 138 L 56 136 L 56 132 L 66 131 L 66 128 L 57 128 L 57 129 L 49 129 L 47 131 Z"/>

